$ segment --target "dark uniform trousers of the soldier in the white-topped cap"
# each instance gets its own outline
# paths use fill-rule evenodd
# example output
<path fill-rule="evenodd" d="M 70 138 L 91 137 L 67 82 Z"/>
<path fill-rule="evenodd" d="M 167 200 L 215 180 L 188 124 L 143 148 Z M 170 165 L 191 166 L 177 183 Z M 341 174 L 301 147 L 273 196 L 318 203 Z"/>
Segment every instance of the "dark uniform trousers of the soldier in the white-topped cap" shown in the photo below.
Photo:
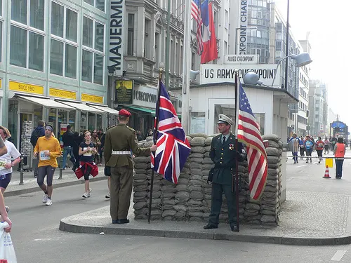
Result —
<path fill-rule="evenodd" d="M 235 191 L 232 192 L 232 186 L 230 184 L 216 184 L 212 183 L 212 203 L 211 203 L 211 214 L 209 217 L 209 223 L 218 225 L 220 208 L 222 207 L 223 192 L 227 199 L 228 205 L 228 219 L 230 225 L 237 224 L 237 200 Z"/>

